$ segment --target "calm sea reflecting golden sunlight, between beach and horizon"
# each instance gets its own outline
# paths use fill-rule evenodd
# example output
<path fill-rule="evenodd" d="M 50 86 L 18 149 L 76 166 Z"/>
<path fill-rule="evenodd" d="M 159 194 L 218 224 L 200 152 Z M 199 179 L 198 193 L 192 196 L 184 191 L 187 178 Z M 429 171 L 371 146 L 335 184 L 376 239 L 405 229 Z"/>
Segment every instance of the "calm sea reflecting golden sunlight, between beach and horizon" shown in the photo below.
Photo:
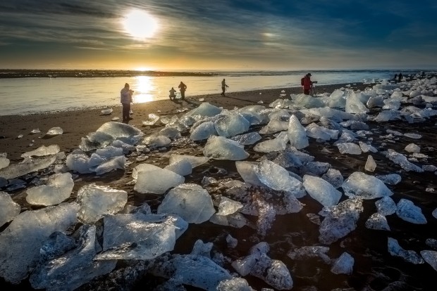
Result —
<path fill-rule="evenodd" d="M 90 71 L 68 71 L 74 72 L 70 74 L 73 77 L 58 77 L 56 71 L 49 75 L 47 71 L 33 72 L 25 75 L 22 72 L 5 73 L 0 70 L 0 115 L 118 105 L 120 90 L 125 83 L 129 83 L 135 91 L 134 103 L 146 103 L 167 99 L 171 87 L 178 90 L 181 81 L 187 85 L 185 96 L 190 98 L 221 93 L 222 79 L 226 79 L 229 86 L 227 93 L 231 94 L 233 91 L 300 86 L 300 79 L 307 72 L 311 72 L 317 85 L 324 85 L 378 82 L 393 79 L 399 72 L 402 75 L 412 75 L 419 74 L 421 70 L 199 71 L 186 74 L 133 71 L 99 71 L 99 74 L 90 74 Z"/>

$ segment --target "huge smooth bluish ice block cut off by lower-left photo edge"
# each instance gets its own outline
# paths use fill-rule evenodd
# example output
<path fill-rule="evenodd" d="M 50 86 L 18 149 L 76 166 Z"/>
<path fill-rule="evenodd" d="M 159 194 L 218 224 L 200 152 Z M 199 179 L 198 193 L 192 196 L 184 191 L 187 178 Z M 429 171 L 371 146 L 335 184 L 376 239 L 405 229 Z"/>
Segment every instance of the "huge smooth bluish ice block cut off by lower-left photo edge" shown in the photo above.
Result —
<path fill-rule="evenodd" d="M 39 260 L 39 250 L 49 235 L 66 231 L 77 223 L 79 205 L 61 203 L 20 213 L 0 233 L 0 276 L 17 284 L 25 279 Z"/>

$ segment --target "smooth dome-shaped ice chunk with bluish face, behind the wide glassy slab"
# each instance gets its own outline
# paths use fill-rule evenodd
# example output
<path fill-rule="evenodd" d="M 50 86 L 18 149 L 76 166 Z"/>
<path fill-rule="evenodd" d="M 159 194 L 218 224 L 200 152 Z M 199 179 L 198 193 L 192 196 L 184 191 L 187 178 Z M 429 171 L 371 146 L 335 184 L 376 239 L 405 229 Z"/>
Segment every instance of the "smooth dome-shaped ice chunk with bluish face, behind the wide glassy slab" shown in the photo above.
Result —
<path fill-rule="evenodd" d="M 201 224 L 215 212 L 208 191 L 194 183 L 186 183 L 168 191 L 158 213 L 178 214 L 190 224 Z"/>

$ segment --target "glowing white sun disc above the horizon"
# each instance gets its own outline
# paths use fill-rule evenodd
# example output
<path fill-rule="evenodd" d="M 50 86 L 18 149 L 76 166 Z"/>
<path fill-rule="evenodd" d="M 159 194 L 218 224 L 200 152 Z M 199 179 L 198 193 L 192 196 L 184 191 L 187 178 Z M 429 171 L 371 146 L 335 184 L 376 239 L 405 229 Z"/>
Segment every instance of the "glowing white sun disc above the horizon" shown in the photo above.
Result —
<path fill-rule="evenodd" d="M 125 31 L 136 39 L 153 37 L 158 30 L 158 22 L 149 13 L 135 9 L 123 18 Z"/>

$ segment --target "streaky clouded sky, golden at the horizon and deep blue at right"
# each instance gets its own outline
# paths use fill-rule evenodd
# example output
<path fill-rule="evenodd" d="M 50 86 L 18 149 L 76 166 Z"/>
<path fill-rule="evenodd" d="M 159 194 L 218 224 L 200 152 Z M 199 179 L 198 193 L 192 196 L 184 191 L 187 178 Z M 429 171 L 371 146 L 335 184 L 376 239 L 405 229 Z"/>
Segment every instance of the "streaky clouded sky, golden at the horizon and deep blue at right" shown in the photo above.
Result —
<path fill-rule="evenodd" d="M 1 0 L 0 68 L 432 70 L 436 15 L 435 0 Z"/>

